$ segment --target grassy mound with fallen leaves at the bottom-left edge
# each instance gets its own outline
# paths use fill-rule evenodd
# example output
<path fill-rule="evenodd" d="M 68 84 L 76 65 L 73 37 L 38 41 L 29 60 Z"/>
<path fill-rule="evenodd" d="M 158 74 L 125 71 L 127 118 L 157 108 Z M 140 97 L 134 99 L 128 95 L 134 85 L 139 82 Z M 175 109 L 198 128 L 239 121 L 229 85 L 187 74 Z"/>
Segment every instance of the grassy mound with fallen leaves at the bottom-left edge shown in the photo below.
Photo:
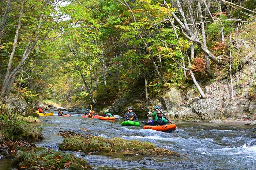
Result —
<path fill-rule="evenodd" d="M 57 170 L 68 168 L 70 170 L 90 170 L 88 162 L 76 158 L 69 153 L 63 153 L 55 150 L 48 150 L 42 147 L 36 147 L 32 150 L 19 151 L 13 161 L 14 166 L 20 169 L 47 169 Z"/>

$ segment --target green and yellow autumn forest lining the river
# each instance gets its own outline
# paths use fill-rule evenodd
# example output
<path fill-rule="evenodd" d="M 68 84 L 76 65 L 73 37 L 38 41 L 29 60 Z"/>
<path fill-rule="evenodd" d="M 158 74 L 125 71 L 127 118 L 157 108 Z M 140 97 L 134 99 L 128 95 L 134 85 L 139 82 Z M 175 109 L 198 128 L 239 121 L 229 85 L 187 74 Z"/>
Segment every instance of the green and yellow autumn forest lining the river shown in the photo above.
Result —
<path fill-rule="evenodd" d="M 147 106 L 172 87 L 208 98 L 205 84 L 241 69 L 233 39 L 255 11 L 254 0 L 2 0 L 1 98 Z"/>

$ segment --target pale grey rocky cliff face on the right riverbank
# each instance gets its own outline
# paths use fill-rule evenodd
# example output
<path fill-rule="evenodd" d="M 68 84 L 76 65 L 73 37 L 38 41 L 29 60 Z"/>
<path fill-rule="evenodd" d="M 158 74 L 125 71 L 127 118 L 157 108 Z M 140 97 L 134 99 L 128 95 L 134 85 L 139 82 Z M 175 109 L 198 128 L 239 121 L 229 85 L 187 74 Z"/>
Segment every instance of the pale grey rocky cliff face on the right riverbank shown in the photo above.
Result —
<path fill-rule="evenodd" d="M 233 75 L 233 98 L 230 81 L 216 81 L 204 87 L 207 99 L 200 99 L 195 89 L 183 93 L 176 88 L 167 92 L 159 100 L 167 117 L 180 120 L 239 119 L 256 114 L 256 101 L 249 90 L 256 84 L 256 47 L 237 40 L 235 46 L 248 51 L 241 61 L 242 69 Z M 156 100 L 157 101 L 157 100 Z"/>

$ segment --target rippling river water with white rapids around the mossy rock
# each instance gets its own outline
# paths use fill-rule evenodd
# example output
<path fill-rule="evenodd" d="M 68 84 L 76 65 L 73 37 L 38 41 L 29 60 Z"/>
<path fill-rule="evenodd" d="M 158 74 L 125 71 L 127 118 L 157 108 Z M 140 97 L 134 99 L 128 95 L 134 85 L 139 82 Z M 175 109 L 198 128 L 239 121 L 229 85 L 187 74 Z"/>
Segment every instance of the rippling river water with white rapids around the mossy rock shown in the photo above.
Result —
<path fill-rule="evenodd" d="M 114 122 L 95 118 L 82 118 L 80 114 L 70 117 L 40 117 L 45 139 L 37 146 L 58 150 L 62 137 L 59 131 L 74 131 L 105 138 L 121 137 L 154 143 L 156 147 L 177 151 L 180 157 L 123 156 L 123 153 L 83 154 L 72 152 L 86 159 L 95 170 L 248 170 L 256 169 L 256 128 L 254 126 L 225 123 L 173 122 L 174 133 L 143 130 L 138 127 L 121 126 L 123 119 Z M 83 129 L 90 130 L 89 132 Z M 13 169 L 11 160 L 0 159 L 0 170 Z"/>

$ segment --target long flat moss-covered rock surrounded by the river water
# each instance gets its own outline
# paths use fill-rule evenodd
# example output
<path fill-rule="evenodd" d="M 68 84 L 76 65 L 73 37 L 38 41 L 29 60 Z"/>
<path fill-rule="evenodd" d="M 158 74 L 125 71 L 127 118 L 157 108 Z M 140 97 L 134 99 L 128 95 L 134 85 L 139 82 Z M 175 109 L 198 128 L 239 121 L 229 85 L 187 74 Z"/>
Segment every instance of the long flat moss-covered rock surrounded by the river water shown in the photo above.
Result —
<path fill-rule="evenodd" d="M 153 143 L 140 142 L 138 140 L 124 140 L 122 138 L 106 139 L 103 137 L 81 135 L 72 133 L 59 144 L 61 150 L 83 151 L 84 153 L 95 152 L 129 152 L 135 155 L 175 155 L 176 152 L 156 148 Z"/>

